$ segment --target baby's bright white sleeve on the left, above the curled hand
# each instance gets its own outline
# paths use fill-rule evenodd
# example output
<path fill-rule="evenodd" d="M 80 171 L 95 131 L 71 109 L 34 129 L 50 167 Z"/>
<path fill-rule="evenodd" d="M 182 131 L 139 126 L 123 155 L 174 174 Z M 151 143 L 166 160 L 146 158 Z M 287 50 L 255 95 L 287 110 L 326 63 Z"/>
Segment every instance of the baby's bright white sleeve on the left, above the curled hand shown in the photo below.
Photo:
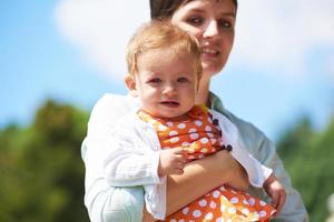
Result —
<path fill-rule="evenodd" d="M 107 183 L 112 186 L 134 186 L 158 184 L 159 153 L 149 151 L 149 144 L 141 142 L 131 129 L 118 130 L 117 134 L 104 147 L 104 173 Z M 125 132 L 127 131 L 127 132 Z M 120 133 L 119 133 L 120 132 Z M 126 134 L 125 134 L 126 133 Z"/>

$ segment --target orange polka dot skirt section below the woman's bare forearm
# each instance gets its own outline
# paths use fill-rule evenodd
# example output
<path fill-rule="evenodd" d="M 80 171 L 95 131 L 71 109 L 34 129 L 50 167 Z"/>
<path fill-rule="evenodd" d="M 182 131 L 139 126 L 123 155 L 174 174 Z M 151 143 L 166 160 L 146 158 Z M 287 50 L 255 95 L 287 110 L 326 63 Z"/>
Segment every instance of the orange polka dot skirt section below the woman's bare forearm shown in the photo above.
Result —
<path fill-rule="evenodd" d="M 187 214 L 184 214 L 184 209 L 168 216 L 166 221 L 269 221 L 274 208 L 269 204 L 263 205 L 263 201 L 250 196 L 242 191 L 232 192 L 229 186 L 220 186 L 214 189 L 208 194 L 187 205 Z M 217 193 L 219 193 L 218 198 Z M 250 206 L 249 201 L 254 201 Z M 245 204 L 248 202 L 247 204 Z M 200 212 L 200 213 L 199 213 Z"/>

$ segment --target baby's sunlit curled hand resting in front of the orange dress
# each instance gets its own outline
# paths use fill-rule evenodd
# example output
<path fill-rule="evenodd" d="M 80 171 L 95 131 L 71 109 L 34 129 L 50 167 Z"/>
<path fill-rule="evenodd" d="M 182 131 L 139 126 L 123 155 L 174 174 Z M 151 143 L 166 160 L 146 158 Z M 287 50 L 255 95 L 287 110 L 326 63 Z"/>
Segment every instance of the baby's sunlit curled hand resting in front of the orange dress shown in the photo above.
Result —
<path fill-rule="evenodd" d="M 186 151 L 183 148 L 163 150 L 160 152 L 158 174 L 183 174 L 185 164 Z"/>

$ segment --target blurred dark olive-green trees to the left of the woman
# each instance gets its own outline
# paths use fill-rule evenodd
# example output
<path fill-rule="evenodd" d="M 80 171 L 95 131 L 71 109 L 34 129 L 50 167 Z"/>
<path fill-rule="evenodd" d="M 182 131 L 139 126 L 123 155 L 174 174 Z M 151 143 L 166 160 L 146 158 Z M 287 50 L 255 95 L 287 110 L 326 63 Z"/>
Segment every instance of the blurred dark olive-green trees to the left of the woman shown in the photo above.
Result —
<path fill-rule="evenodd" d="M 29 128 L 0 132 L 0 221 L 89 221 L 80 159 L 87 120 L 47 101 Z"/>

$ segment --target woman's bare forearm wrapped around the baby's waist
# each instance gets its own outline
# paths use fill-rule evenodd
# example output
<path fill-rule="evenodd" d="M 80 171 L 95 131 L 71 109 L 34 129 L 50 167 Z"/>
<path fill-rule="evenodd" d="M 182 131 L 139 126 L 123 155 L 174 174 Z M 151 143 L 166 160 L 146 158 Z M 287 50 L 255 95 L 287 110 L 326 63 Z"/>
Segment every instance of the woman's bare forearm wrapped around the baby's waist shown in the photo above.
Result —
<path fill-rule="evenodd" d="M 245 170 L 225 150 L 188 163 L 181 175 L 170 175 L 167 181 L 167 215 L 222 184 L 239 190 L 249 185 Z"/>

